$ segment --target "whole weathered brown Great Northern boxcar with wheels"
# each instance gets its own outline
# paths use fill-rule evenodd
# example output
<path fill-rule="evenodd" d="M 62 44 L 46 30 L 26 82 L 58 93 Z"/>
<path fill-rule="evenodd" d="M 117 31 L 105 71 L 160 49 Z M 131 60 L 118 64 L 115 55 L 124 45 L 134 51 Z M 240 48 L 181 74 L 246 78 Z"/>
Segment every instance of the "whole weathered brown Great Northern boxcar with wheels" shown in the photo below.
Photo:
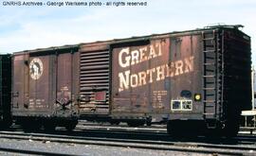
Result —
<path fill-rule="evenodd" d="M 79 113 L 130 126 L 166 121 L 170 134 L 235 135 L 251 107 L 250 37 L 239 27 L 14 53 L 13 117 L 71 130 Z"/>

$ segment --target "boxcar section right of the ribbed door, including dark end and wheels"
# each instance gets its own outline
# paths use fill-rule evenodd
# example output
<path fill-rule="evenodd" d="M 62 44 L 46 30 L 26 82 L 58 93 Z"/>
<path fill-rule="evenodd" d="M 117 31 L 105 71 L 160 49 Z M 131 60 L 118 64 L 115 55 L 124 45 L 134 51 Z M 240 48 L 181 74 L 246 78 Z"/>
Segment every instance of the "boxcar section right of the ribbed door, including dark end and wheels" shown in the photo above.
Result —
<path fill-rule="evenodd" d="M 250 37 L 239 28 L 210 26 L 112 43 L 112 118 L 167 118 L 170 134 L 235 135 L 241 111 L 251 107 Z"/>

